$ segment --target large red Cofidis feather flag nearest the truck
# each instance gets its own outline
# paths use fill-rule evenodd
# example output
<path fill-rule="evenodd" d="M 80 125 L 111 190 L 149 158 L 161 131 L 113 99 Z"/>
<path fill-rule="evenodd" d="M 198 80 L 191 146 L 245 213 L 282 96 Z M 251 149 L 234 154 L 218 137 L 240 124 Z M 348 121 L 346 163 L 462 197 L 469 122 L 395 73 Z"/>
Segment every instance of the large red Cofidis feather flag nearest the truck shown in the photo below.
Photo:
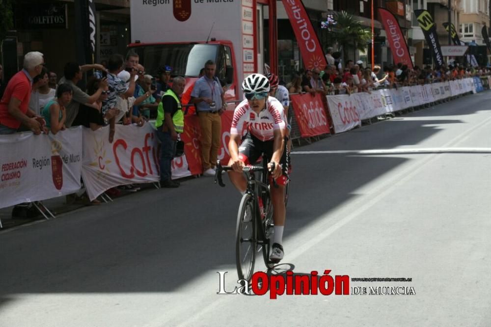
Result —
<path fill-rule="evenodd" d="M 327 66 L 326 57 L 303 2 L 301 0 L 282 1 L 297 38 L 303 64 L 307 69 L 319 68 L 323 70 Z"/>

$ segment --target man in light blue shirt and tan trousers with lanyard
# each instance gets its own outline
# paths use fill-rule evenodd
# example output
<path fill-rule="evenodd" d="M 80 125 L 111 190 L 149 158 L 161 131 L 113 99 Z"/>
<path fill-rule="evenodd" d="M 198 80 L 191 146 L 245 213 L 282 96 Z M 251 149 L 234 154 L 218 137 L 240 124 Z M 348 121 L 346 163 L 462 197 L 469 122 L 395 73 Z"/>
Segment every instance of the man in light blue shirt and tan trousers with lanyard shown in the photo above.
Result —
<path fill-rule="evenodd" d="M 201 160 L 203 175 L 215 176 L 221 139 L 221 117 L 225 99 L 220 81 L 215 77 L 215 62 L 205 63 L 205 75 L 194 83 L 190 103 L 196 105 L 201 126 Z"/>

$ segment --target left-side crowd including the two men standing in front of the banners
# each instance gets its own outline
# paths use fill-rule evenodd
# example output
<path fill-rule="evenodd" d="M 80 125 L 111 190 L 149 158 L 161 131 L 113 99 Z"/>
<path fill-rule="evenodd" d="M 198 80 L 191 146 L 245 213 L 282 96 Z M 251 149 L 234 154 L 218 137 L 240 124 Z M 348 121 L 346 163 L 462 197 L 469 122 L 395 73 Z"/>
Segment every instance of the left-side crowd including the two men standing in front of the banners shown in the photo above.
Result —
<path fill-rule="evenodd" d="M 203 62 L 200 79 L 194 88 L 190 87 L 187 95 L 191 103 L 195 104 L 197 110 L 194 112 L 198 114 L 202 130 L 205 131 L 202 140 L 203 168 L 206 175 L 210 176 L 214 175 L 219 147 L 219 116 L 225 109 L 225 87 L 214 77 L 215 67 L 215 63 L 210 60 Z M 0 135 L 29 130 L 35 135 L 57 134 L 66 128 L 80 125 L 95 131 L 109 126 L 107 137 L 112 142 L 117 123 L 141 127 L 149 119 L 157 119 L 162 125 L 166 118 L 164 133 L 159 134 L 161 140 L 169 139 L 165 143 L 168 151 L 164 151 L 164 158 L 161 158 L 161 164 L 165 162 L 163 166 L 168 168 L 161 171 L 161 185 L 179 186 L 179 183 L 170 180 L 169 158 L 173 156 L 170 152 L 175 151 L 178 137 L 176 131 L 173 131 L 175 119 L 167 116 L 172 116 L 177 109 L 181 110 L 178 97 L 184 91 L 185 80 L 174 77 L 172 85 L 182 86 L 182 90 L 179 87 L 174 89 L 170 83 L 171 66 L 159 67 L 157 78 L 154 78 L 139 63 L 138 54 L 129 53 L 126 58 L 114 54 L 102 64 L 79 65 L 67 62 L 63 76 L 58 80 L 56 73 L 45 67 L 44 55 L 30 52 L 24 57 L 23 69 L 6 85 L 1 68 L 0 86 L 5 88 L 5 92 L 0 94 Z M 86 73 L 88 76 L 84 76 Z M 86 86 L 81 87 L 85 85 L 82 81 L 86 82 Z M 209 92 L 210 85 L 213 86 L 212 92 Z M 172 94 L 178 97 L 164 96 Z M 177 99 L 177 103 L 174 99 Z M 164 104 L 168 108 L 163 108 Z M 169 136 L 166 137 L 165 133 Z M 179 133 L 182 133 L 180 129 Z M 139 188 L 136 185 L 125 185 L 111 189 L 108 193 L 118 195 L 121 190 L 138 191 Z"/>

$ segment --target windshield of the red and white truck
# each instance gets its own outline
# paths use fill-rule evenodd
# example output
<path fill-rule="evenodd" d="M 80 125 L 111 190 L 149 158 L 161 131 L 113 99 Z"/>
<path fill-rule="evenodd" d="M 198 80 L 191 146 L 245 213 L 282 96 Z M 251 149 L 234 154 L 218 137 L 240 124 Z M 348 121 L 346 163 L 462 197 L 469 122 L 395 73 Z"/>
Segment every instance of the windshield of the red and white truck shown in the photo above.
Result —
<path fill-rule="evenodd" d="M 172 67 L 172 76 L 198 77 L 207 60 L 217 60 L 217 44 L 156 44 L 131 48 L 147 74 L 157 76 L 160 66 Z"/>

